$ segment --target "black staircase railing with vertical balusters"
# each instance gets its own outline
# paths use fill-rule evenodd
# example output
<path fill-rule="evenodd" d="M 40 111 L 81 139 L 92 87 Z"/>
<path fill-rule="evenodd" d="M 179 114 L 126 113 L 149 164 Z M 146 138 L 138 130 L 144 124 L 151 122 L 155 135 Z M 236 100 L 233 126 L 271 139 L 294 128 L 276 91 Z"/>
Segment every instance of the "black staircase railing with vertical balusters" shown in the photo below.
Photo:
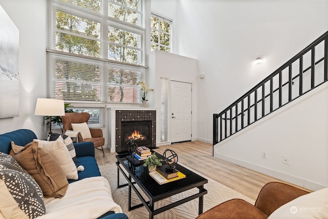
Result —
<path fill-rule="evenodd" d="M 328 81 L 328 31 L 220 113 L 213 146 Z"/>

